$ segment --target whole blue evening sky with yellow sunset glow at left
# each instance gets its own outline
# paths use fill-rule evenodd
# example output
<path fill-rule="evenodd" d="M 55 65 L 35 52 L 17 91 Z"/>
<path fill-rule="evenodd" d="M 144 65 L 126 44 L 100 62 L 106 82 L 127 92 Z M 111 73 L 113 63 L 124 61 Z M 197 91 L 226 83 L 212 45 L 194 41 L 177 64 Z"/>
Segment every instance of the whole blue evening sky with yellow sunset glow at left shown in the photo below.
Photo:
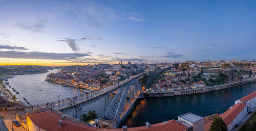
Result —
<path fill-rule="evenodd" d="M 255 6 L 0 0 L 0 65 L 256 60 Z"/>

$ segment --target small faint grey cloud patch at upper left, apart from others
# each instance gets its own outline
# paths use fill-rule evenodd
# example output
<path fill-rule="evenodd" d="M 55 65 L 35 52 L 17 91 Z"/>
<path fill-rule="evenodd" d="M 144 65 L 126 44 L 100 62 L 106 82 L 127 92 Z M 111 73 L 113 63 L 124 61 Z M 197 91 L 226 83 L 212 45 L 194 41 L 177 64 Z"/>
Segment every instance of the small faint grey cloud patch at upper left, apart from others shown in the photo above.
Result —
<path fill-rule="evenodd" d="M 28 30 L 31 32 L 44 32 L 44 29 L 46 28 L 45 21 L 39 21 L 33 24 L 19 24 L 18 27 Z"/>

